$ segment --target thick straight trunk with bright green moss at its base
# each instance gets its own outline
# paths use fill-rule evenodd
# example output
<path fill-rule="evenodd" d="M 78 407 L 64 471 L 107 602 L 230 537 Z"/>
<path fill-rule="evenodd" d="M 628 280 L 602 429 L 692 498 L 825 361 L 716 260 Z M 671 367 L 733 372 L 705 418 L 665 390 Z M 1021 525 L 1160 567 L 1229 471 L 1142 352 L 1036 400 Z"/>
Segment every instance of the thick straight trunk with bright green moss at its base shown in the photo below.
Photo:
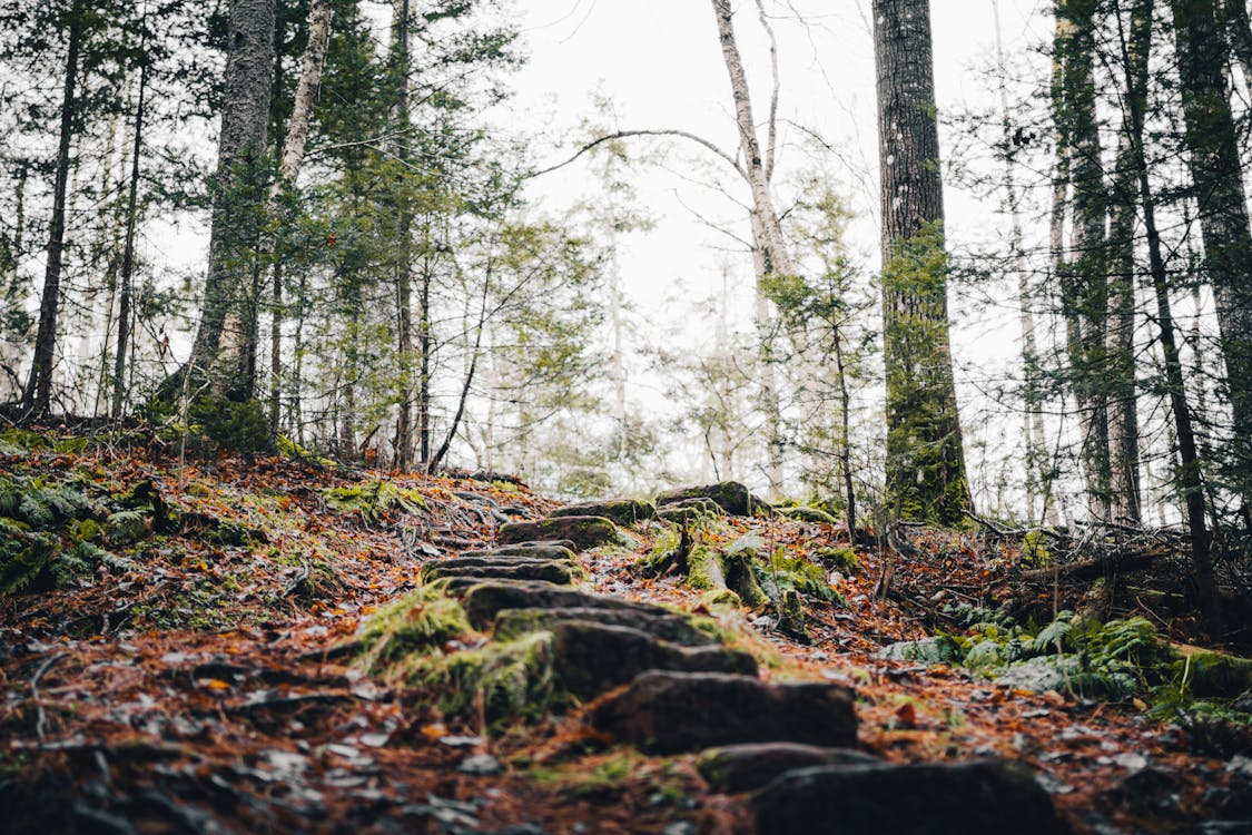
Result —
<path fill-rule="evenodd" d="M 970 507 L 948 333 L 929 0 L 874 0 L 888 492 L 910 520 Z"/>

